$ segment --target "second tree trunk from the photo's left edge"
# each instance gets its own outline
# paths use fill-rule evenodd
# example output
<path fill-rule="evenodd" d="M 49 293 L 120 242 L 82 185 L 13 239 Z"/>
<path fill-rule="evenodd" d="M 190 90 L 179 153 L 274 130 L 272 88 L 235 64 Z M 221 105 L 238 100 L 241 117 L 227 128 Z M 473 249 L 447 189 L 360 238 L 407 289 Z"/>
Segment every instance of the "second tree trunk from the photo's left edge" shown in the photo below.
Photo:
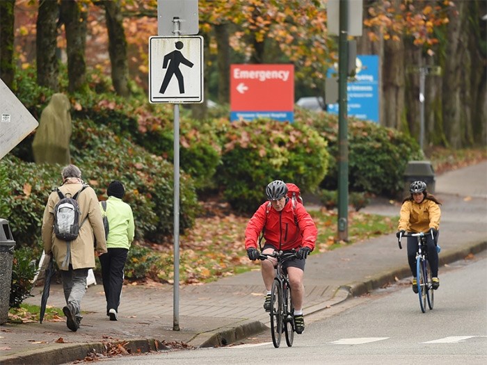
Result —
<path fill-rule="evenodd" d="M 59 65 L 56 57 L 57 19 L 57 1 L 39 0 L 35 33 L 37 83 L 54 91 L 59 90 Z"/>

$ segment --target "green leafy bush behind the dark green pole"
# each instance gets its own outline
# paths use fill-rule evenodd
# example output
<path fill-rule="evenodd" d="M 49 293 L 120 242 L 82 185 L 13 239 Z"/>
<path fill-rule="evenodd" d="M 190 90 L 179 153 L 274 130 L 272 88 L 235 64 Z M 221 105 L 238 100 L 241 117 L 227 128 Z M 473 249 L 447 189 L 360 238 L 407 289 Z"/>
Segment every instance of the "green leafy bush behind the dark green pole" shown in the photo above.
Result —
<path fill-rule="evenodd" d="M 328 140 L 330 172 L 320 186 L 336 189 L 339 153 L 337 115 L 303 113 L 301 120 Z M 348 132 L 350 190 L 395 197 L 403 188 L 403 174 L 408 161 L 422 159 L 415 140 L 395 129 L 355 118 L 349 118 Z"/>

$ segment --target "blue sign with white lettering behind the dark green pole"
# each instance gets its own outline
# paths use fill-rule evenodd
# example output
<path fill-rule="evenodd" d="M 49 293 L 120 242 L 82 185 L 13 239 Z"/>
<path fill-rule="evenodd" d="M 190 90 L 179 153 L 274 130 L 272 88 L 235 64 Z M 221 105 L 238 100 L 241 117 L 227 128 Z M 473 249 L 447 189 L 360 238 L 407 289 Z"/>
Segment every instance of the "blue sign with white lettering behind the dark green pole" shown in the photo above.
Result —
<path fill-rule="evenodd" d="M 378 123 L 378 56 L 357 56 L 356 67 L 356 81 L 346 85 L 347 114 Z M 334 74 L 337 74 L 336 69 L 328 70 L 328 76 Z M 338 104 L 328 104 L 327 111 L 338 114 Z"/>

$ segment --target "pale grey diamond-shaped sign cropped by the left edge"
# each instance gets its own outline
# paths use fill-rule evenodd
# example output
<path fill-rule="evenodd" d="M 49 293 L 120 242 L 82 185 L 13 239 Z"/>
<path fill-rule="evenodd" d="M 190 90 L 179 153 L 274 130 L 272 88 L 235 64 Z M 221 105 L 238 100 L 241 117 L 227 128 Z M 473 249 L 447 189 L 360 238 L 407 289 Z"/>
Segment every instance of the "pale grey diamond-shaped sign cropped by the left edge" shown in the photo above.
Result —
<path fill-rule="evenodd" d="M 38 127 L 35 117 L 0 79 L 0 159 Z"/>

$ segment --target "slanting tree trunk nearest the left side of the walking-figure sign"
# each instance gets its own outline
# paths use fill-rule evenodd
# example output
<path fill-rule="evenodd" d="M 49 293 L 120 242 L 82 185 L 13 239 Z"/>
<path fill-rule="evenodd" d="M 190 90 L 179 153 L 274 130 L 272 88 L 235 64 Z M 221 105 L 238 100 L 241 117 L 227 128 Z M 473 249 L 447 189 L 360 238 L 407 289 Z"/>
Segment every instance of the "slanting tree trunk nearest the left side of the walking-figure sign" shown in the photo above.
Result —
<path fill-rule="evenodd" d="M 111 80 L 115 92 L 122 97 L 130 95 L 129 63 L 127 60 L 127 39 L 123 29 L 120 2 L 103 1 L 106 28 L 109 31 L 109 54 L 111 61 Z"/>

